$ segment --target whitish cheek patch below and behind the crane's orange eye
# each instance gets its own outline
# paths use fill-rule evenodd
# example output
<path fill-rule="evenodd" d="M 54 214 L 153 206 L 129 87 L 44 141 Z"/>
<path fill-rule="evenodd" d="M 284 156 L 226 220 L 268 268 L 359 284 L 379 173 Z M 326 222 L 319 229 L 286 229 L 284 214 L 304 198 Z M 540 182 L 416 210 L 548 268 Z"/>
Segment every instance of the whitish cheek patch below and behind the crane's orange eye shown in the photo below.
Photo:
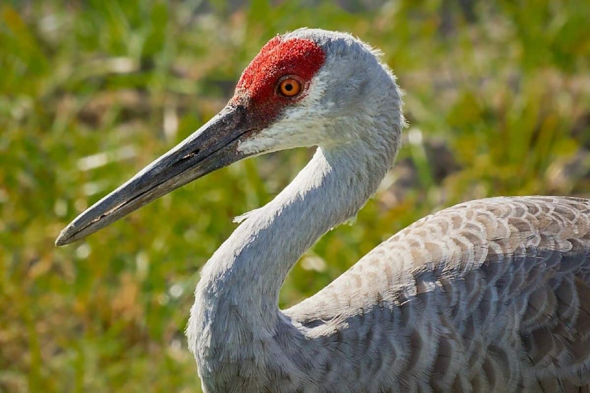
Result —
<path fill-rule="evenodd" d="M 322 106 L 325 91 L 320 71 L 310 84 L 306 97 L 296 107 L 286 111 L 283 118 L 253 136 L 238 143 L 238 151 L 246 154 L 269 153 L 295 147 L 310 147 L 324 143 L 330 119 Z"/>

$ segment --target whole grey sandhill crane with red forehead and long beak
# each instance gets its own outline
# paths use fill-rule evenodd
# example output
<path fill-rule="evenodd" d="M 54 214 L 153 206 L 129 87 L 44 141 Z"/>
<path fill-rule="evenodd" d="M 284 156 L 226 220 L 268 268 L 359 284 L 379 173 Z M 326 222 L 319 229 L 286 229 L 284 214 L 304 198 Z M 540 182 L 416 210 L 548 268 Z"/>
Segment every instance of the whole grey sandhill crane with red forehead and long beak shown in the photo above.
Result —
<path fill-rule="evenodd" d="M 71 222 L 65 245 L 269 151 L 317 146 L 209 259 L 186 330 L 206 392 L 571 392 L 590 379 L 590 200 L 496 197 L 425 217 L 281 311 L 299 257 L 391 167 L 395 77 L 348 34 L 271 39 L 227 106 Z"/>

